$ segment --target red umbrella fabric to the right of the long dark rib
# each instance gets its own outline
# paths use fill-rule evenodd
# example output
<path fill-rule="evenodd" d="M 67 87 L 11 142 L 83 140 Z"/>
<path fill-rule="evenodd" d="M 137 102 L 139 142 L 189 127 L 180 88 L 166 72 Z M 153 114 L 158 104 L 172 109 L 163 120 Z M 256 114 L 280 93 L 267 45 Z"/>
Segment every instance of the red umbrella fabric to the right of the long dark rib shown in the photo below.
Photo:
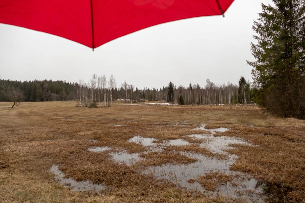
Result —
<path fill-rule="evenodd" d="M 233 0 L 218 0 L 223 12 Z M 221 15 L 216 0 L 93 0 L 95 47 L 143 28 Z"/>

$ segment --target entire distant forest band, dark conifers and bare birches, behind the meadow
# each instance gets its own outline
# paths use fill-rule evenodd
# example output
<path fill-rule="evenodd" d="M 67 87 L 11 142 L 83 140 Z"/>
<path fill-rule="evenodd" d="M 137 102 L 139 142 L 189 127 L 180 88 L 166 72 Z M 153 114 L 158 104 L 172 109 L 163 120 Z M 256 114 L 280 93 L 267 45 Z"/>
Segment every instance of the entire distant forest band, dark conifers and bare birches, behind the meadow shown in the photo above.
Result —
<path fill-rule="evenodd" d="M 2 91 L 1 101 L 10 101 L 5 96 L 5 90 L 18 88 L 23 93 L 23 101 L 67 101 L 74 100 L 79 107 L 88 106 L 111 106 L 115 100 L 124 100 L 128 105 L 146 101 L 164 100 L 180 104 L 231 104 L 231 103 L 252 103 L 252 92 L 250 82 L 241 77 L 239 85 L 232 83 L 215 84 L 209 79 L 206 85 L 190 83 L 189 86 L 175 86 L 170 82 L 160 89 L 139 89 L 127 82 L 117 87 L 113 75 L 106 78 L 105 75 L 98 77 L 93 74 L 90 82 L 52 81 L 12 81 L 0 80 Z"/>

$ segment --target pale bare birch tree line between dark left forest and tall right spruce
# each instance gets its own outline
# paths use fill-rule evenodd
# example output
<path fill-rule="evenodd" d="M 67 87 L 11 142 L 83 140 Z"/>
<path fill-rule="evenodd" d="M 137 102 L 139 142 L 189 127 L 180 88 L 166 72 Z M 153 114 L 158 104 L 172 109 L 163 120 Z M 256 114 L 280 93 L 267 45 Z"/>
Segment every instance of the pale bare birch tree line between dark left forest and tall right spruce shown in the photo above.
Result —
<path fill-rule="evenodd" d="M 192 83 L 188 87 L 175 86 L 171 81 L 168 86 L 160 89 L 138 89 L 126 81 L 117 88 L 117 83 L 111 75 L 92 75 L 90 82 L 80 80 L 76 83 L 77 107 L 111 107 L 115 100 L 123 100 L 126 105 L 144 101 L 164 100 L 179 104 L 232 104 L 253 103 L 253 91 L 250 82 L 241 76 L 239 85 L 230 82 L 218 85 L 206 80 L 206 86 Z"/>

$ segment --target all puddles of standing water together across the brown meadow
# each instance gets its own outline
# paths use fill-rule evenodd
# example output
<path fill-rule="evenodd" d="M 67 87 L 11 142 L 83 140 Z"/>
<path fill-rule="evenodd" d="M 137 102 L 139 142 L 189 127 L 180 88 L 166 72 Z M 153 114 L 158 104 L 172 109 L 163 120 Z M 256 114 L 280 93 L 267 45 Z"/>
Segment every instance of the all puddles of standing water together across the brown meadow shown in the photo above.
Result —
<path fill-rule="evenodd" d="M 233 148 L 232 145 L 234 144 L 251 145 L 251 143 L 236 137 L 214 136 L 217 132 L 225 132 L 229 130 L 228 128 L 206 129 L 205 125 L 201 125 L 198 128 L 194 128 L 194 130 L 204 130 L 207 133 L 186 136 L 199 140 L 199 142 L 197 142 L 199 147 L 205 148 L 212 153 L 223 155 L 222 157 L 225 158 L 218 159 L 217 156 L 208 157 L 199 153 L 179 151 L 178 153 L 180 155 L 196 159 L 196 161 L 188 164 L 167 163 L 161 166 L 148 166 L 143 171 L 140 171 L 140 173 L 152 174 L 157 179 L 165 179 L 173 182 L 177 187 L 184 187 L 187 190 L 203 192 L 209 196 L 226 196 L 233 199 L 251 202 L 264 201 L 265 196 L 262 184 L 246 173 L 235 172 L 229 169 L 238 157 L 234 154 L 228 153 L 226 150 Z M 140 135 L 136 135 L 129 139 L 128 142 L 142 145 L 147 150 L 145 153 L 160 153 L 169 146 L 193 144 L 183 139 L 158 140 L 156 138 L 144 138 Z M 126 164 L 128 166 L 144 159 L 139 153 L 127 153 L 127 151 L 123 149 L 112 149 L 108 146 L 89 148 L 88 151 L 94 153 L 107 153 L 107 151 L 109 151 L 108 153 L 114 162 L 118 164 Z M 70 184 L 70 187 L 72 187 L 73 190 L 99 191 L 106 187 L 105 185 L 92 184 L 89 181 L 76 182 L 71 178 L 64 178 L 63 172 L 61 172 L 58 169 L 58 166 L 55 165 L 52 166 L 51 172 L 56 175 L 56 180 L 66 186 Z M 216 184 L 213 190 L 206 189 L 202 184 L 200 184 L 200 178 L 213 172 L 228 175 L 233 178 L 230 181 L 220 181 L 221 183 Z"/>

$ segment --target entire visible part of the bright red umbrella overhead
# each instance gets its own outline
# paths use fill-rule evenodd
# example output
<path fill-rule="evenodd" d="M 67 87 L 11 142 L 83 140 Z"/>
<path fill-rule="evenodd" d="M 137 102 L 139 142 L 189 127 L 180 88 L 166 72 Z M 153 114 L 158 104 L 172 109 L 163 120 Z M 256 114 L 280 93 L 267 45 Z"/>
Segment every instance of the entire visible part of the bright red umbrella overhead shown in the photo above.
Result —
<path fill-rule="evenodd" d="M 169 21 L 223 15 L 234 0 L 0 0 L 0 23 L 96 48 Z"/>

